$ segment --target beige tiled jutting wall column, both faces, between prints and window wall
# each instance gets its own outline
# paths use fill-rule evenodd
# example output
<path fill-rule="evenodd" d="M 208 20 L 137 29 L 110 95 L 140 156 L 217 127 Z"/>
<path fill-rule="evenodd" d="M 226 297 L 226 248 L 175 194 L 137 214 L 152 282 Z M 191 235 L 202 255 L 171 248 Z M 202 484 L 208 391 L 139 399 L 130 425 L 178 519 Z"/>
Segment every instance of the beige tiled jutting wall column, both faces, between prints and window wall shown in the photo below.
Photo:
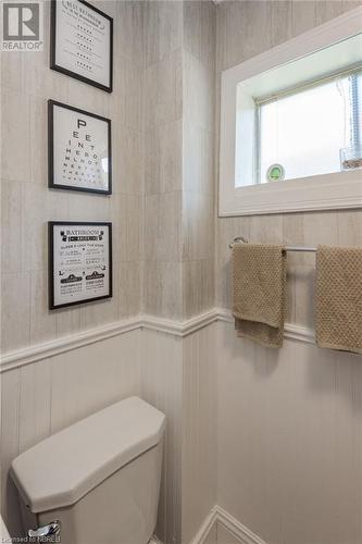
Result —
<path fill-rule="evenodd" d="M 215 7 L 148 2 L 145 14 L 145 311 L 213 306 Z"/>

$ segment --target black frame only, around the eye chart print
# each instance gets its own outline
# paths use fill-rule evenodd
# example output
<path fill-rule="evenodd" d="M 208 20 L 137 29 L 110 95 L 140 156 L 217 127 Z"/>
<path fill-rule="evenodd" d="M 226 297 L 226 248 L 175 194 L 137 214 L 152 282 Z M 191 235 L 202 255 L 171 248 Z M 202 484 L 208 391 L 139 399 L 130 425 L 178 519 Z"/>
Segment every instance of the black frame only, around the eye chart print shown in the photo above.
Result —
<path fill-rule="evenodd" d="M 55 183 L 54 172 L 54 107 L 71 110 L 80 115 L 97 119 L 108 124 L 108 187 L 105 189 L 95 189 L 87 186 L 74 186 Z M 112 195 L 112 121 L 96 113 L 80 110 L 74 106 L 68 106 L 57 100 L 48 100 L 48 187 L 52 189 L 80 190 L 85 193 L 96 193 L 101 195 Z"/>

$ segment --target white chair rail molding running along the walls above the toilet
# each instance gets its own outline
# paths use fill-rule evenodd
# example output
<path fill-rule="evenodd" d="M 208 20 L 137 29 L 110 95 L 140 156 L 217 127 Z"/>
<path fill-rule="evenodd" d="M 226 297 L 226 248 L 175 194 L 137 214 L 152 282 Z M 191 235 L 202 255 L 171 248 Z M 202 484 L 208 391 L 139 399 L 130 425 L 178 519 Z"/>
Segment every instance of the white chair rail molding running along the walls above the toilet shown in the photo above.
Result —
<path fill-rule="evenodd" d="M 73 334 L 72 336 L 64 336 L 51 342 L 5 354 L 1 358 L 0 373 L 136 330 L 146 329 L 171 334 L 173 336 L 185 337 L 215 321 L 224 321 L 234 324 L 232 312 L 226 308 L 216 307 L 186 321 L 175 321 L 171 319 L 161 319 L 155 316 L 139 314 L 115 323 L 109 323 L 101 327 Z M 291 323 L 286 323 L 285 325 L 285 338 L 314 344 L 313 331 Z"/>

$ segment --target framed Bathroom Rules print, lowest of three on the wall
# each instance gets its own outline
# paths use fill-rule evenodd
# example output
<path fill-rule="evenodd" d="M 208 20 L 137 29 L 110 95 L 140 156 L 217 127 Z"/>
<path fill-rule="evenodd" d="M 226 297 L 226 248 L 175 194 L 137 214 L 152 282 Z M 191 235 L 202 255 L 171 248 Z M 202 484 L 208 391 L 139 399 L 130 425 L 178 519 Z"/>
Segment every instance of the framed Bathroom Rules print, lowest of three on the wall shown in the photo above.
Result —
<path fill-rule="evenodd" d="M 49 222 L 49 309 L 112 297 L 112 223 Z"/>

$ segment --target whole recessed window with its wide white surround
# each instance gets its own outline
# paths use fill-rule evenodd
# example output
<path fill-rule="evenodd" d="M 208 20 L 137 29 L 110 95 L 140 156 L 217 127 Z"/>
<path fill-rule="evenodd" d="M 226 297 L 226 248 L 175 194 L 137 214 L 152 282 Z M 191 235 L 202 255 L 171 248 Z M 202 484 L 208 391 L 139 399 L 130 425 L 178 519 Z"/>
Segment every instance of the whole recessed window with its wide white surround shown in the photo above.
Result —
<path fill-rule="evenodd" d="M 362 8 L 222 73 L 220 214 L 362 207 Z"/>

